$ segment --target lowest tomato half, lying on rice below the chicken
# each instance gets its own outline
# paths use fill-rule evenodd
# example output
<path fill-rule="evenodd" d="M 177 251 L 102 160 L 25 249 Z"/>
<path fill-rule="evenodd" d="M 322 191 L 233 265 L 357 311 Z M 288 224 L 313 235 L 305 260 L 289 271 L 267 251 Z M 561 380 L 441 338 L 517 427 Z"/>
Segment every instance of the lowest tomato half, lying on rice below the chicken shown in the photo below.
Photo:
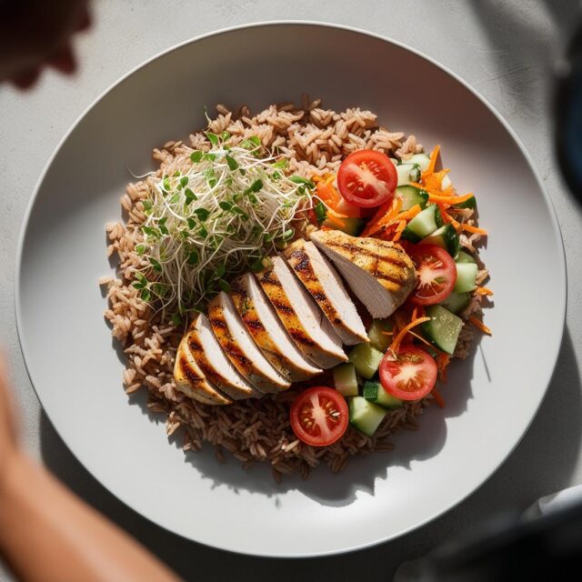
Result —
<path fill-rule="evenodd" d="M 296 397 L 291 406 L 293 432 L 313 447 L 335 443 L 346 432 L 348 420 L 346 400 L 333 388 L 308 388 Z"/>

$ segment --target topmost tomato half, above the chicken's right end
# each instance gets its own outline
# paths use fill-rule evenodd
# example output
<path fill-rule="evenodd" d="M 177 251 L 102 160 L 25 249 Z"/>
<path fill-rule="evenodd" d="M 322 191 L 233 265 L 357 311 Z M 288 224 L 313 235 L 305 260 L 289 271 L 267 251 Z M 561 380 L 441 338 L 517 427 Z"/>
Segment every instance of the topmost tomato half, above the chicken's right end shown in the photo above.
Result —
<path fill-rule="evenodd" d="M 394 196 L 398 176 L 386 154 L 373 149 L 353 152 L 337 171 L 337 187 L 347 202 L 362 208 L 385 203 Z"/>

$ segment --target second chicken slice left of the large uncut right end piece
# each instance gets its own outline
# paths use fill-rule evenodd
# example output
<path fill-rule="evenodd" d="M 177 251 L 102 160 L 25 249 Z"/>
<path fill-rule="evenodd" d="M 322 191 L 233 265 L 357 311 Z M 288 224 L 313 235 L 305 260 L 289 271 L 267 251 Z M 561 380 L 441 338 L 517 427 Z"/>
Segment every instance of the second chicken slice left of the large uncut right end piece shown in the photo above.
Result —
<path fill-rule="evenodd" d="M 317 366 L 328 368 L 346 361 L 342 340 L 280 256 L 273 266 L 256 273 L 258 282 L 296 346 Z"/>

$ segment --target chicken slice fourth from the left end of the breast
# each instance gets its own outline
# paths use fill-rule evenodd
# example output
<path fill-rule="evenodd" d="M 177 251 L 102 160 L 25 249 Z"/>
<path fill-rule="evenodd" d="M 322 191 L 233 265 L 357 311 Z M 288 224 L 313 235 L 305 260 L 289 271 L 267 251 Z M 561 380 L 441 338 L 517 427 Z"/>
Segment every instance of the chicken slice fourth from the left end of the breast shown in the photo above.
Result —
<path fill-rule="evenodd" d="M 282 376 L 289 382 L 298 382 L 322 371 L 297 349 L 251 273 L 239 276 L 230 287 L 230 296 L 246 329 Z"/>

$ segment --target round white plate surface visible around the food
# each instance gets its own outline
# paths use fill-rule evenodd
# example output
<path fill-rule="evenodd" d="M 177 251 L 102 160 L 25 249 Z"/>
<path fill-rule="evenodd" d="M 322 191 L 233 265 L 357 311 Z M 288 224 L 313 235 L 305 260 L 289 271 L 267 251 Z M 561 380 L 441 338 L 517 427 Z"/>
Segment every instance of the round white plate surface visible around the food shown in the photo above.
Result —
<path fill-rule="evenodd" d="M 477 194 L 490 232 L 482 256 L 495 308 L 485 337 L 451 366 L 444 410 L 395 438 L 389 454 L 341 475 L 316 470 L 277 486 L 206 449 L 168 443 L 144 396 L 129 405 L 97 278 L 111 273 L 104 225 L 152 166 L 153 146 L 204 124 L 203 105 L 252 108 L 320 95 L 370 108 L 382 124 L 440 143 L 461 192 Z M 92 105 L 46 167 L 25 219 L 16 313 L 26 366 L 46 414 L 115 496 L 190 539 L 262 556 L 343 552 L 402 535 L 479 487 L 536 415 L 560 346 L 566 273 L 554 211 L 507 124 L 460 79 L 386 39 L 326 25 L 251 25 L 181 45 Z"/>

